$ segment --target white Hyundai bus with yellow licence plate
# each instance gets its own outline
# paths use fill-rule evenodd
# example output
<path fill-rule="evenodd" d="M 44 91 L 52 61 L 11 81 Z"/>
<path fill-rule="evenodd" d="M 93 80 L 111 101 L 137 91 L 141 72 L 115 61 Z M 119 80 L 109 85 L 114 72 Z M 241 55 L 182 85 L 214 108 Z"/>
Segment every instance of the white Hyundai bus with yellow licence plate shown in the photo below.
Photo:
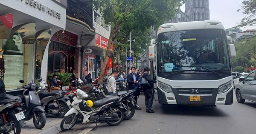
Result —
<path fill-rule="evenodd" d="M 148 56 L 156 60 L 159 103 L 233 103 L 230 59 L 236 57 L 236 51 L 227 43 L 221 22 L 163 24 L 157 31 L 157 42 L 151 40 Z"/>

